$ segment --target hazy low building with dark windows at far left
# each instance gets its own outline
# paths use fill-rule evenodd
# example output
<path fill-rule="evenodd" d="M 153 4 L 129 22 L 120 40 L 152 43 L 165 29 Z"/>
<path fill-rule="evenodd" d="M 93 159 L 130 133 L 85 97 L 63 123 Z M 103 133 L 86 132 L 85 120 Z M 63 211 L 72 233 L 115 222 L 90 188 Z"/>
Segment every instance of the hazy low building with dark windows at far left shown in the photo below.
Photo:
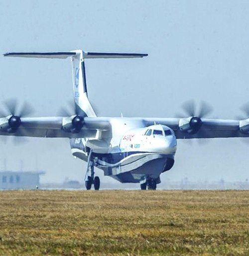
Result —
<path fill-rule="evenodd" d="M 0 171 L 0 189 L 35 189 L 43 174 L 43 171 Z"/>

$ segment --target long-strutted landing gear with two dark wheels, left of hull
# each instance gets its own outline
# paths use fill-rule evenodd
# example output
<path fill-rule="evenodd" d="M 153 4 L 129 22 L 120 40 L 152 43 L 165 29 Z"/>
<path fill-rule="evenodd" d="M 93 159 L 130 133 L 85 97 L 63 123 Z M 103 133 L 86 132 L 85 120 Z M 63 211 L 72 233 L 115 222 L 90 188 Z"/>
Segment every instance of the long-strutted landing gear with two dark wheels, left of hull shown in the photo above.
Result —
<path fill-rule="evenodd" d="M 94 177 L 94 162 L 92 159 L 92 150 L 90 151 L 90 154 L 88 157 L 85 184 L 86 184 L 87 190 L 90 190 L 92 188 L 92 185 L 94 185 L 95 190 L 100 189 L 100 178 L 98 176 Z"/>

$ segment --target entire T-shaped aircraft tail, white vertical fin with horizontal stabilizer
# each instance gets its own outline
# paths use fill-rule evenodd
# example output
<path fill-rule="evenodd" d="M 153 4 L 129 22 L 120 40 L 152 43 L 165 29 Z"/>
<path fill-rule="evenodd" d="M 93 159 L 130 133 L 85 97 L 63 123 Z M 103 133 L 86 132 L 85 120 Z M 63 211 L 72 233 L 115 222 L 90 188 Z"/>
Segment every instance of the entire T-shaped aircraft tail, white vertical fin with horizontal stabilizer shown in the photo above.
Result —
<path fill-rule="evenodd" d="M 140 53 L 105 53 L 105 52 L 84 52 L 74 50 L 68 52 L 9 52 L 3 54 L 10 57 L 31 57 L 31 58 L 67 58 L 71 57 L 73 66 L 73 84 L 75 111 L 77 115 L 95 117 L 96 113 L 88 99 L 85 58 L 138 58 L 148 54 Z"/>

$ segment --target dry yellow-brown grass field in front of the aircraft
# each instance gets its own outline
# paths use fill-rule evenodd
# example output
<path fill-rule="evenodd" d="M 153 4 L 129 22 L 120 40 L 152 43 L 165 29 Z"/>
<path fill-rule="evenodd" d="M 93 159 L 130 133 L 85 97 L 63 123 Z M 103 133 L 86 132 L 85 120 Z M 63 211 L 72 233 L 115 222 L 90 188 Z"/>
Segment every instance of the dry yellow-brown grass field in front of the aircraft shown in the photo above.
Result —
<path fill-rule="evenodd" d="M 249 191 L 0 191 L 0 255 L 249 255 Z"/>

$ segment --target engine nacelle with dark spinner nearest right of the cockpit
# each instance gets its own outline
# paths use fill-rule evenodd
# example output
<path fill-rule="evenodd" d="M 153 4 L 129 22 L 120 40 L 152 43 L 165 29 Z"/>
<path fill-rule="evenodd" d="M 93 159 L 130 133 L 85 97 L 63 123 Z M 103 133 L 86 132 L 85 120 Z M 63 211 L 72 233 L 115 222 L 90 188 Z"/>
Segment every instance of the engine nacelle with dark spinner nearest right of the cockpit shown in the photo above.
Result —
<path fill-rule="evenodd" d="M 181 118 L 179 120 L 179 128 L 181 131 L 196 134 L 202 126 L 202 120 L 197 116 L 190 116 L 188 118 Z"/>

